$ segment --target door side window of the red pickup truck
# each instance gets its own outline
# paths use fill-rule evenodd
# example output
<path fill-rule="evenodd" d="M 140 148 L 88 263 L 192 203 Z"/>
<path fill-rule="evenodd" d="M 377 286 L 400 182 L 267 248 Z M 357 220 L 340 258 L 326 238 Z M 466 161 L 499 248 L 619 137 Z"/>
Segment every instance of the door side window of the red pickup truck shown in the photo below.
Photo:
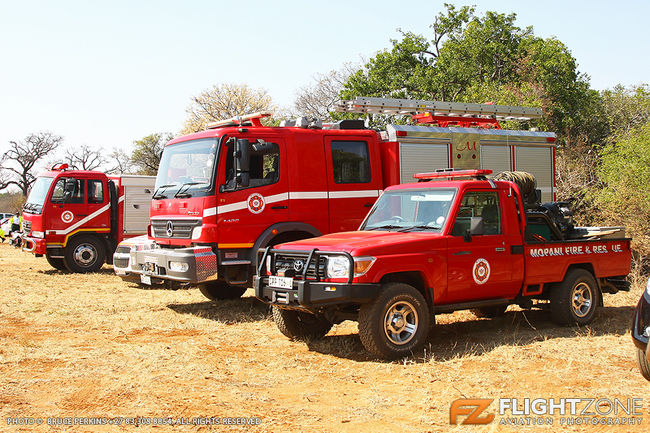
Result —
<path fill-rule="evenodd" d="M 453 236 L 463 236 L 471 226 L 472 217 L 483 218 L 484 234 L 501 234 L 501 211 L 496 191 L 470 191 L 465 194 L 451 231 Z"/>

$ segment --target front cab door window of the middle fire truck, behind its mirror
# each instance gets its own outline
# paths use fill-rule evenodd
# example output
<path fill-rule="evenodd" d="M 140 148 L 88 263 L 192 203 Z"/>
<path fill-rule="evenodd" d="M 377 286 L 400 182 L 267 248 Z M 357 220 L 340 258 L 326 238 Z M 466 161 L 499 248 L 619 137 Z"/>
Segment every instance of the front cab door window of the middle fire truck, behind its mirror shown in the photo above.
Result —
<path fill-rule="evenodd" d="M 229 140 L 226 146 L 226 186 L 233 188 L 235 185 L 234 140 Z M 248 188 L 271 185 L 280 180 L 280 146 L 277 143 L 261 139 L 250 140 L 249 152 L 250 183 Z"/>

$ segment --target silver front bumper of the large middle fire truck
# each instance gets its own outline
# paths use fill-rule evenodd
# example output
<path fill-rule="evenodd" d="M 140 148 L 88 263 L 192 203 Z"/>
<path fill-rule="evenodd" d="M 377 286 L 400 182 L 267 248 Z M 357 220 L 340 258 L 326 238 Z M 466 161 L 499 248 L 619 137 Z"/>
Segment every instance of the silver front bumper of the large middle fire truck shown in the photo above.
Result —
<path fill-rule="evenodd" d="M 172 262 L 186 270 L 172 270 Z M 116 252 L 113 263 L 115 273 L 125 280 L 196 284 L 217 278 L 217 256 L 210 247 L 132 249 L 128 254 Z"/>

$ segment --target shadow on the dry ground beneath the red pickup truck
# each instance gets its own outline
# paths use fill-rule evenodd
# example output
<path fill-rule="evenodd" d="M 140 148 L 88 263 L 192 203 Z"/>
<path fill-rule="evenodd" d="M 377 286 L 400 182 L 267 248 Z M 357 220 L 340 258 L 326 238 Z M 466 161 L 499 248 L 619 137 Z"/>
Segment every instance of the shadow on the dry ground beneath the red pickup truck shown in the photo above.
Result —
<path fill-rule="evenodd" d="M 408 362 L 448 361 L 467 355 L 482 355 L 501 346 L 526 346 L 538 341 L 576 336 L 623 335 L 629 332 L 634 307 L 605 307 L 588 326 L 563 327 L 550 321 L 543 309 L 509 311 L 494 319 L 475 319 L 436 324 L 425 349 Z M 439 318 L 439 322 L 441 319 Z M 357 334 L 326 336 L 308 341 L 310 350 L 354 361 L 375 360 L 364 349 Z M 379 360 L 382 362 L 381 360 Z"/>

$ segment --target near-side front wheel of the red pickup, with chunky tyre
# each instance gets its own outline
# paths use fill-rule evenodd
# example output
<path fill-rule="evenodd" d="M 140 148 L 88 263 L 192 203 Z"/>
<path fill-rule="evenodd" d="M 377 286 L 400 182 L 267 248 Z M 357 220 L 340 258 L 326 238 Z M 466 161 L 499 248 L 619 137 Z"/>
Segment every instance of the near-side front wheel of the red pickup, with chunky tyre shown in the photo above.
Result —
<path fill-rule="evenodd" d="M 359 310 L 359 337 L 373 355 L 396 359 L 413 354 L 425 343 L 430 312 L 413 286 L 387 283 L 379 296 Z"/>

